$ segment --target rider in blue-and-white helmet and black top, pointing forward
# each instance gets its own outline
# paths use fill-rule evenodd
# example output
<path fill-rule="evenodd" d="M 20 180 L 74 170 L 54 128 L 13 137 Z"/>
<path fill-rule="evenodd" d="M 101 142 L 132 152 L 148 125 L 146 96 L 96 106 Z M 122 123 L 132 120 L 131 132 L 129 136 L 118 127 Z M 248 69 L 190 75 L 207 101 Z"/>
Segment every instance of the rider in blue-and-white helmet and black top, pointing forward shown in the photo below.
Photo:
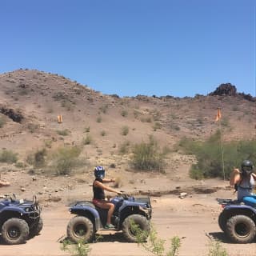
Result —
<path fill-rule="evenodd" d="M 99 208 L 108 209 L 106 226 L 104 226 L 104 228 L 105 229 L 114 228 L 114 225 L 111 224 L 111 217 L 112 217 L 112 214 L 114 213 L 114 204 L 106 200 L 104 190 L 114 192 L 116 194 L 121 194 L 121 192 L 118 190 L 114 190 L 110 186 L 106 186 L 103 184 L 108 182 L 114 182 L 113 178 L 111 179 L 105 178 L 104 167 L 102 166 L 95 167 L 94 176 L 95 176 L 95 180 L 93 183 L 93 190 L 94 190 L 93 203 L 95 206 L 98 206 Z"/>

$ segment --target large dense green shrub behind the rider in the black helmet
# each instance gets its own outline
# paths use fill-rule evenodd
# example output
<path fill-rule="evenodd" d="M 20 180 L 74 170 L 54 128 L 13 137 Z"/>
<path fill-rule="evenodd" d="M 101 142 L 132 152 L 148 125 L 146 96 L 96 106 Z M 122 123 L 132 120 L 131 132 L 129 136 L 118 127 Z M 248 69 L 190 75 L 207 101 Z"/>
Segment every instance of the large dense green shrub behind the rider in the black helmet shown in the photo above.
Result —
<path fill-rule="evenodd" d="M 205 142 L 183 138 L 179 146 L 186 154 L 194 154 L 197 158 L 197 163 L 190 168 L 191 178 L 224 178 L 222 152 L 226 178 L 229 178 L 234 166 L 239 167 L 244 159 L 256 162 L 256 140 L 221 142 L 220 130 Z"/>

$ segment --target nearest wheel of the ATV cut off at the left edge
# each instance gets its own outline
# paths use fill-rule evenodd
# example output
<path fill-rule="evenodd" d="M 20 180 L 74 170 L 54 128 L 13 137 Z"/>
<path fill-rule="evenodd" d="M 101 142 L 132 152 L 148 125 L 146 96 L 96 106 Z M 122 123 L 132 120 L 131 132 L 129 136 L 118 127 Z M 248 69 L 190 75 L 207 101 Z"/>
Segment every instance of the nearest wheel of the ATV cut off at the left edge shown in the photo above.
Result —
<path fill-rule="evenodd" d="M 10 218 L 2 225 L 2 239 L 8 245 L 18 245 L 26 242 L 30 228 L 21 218 Z"/>

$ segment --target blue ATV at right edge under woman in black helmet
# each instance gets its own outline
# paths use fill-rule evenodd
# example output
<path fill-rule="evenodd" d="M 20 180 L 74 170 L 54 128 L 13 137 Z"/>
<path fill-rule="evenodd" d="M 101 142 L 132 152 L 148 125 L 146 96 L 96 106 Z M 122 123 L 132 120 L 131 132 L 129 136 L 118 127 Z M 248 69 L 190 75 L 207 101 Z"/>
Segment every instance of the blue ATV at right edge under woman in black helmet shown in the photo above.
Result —
<path fill-rule="evenodd" d="M 256 208 L 232 199 L 217 198 L 222 205 L 218 226 L 236 243 L 253 242 L 256 238 Z"/>

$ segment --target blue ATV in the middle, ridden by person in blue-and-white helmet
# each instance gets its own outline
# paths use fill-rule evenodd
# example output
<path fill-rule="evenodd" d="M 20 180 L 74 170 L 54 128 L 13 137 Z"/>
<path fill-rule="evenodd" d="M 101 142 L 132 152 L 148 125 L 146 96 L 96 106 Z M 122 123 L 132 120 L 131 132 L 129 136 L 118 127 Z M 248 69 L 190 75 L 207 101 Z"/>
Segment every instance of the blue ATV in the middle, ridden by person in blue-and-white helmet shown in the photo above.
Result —
<path fill-rule="evenodd" d="M 150 218 L 152 207 L 150 198 L 134 198 L 122 194 L 110 199 L 114 204 L 114 214 L 111 223 L 114 230 L 122 230 L 127 242 L 136 242 L 133 223 L 143 231 L 146 240 L 150 233 Z M 94 206 L 89 201 L 79 201 L 70 204 L 70 213 L 76 214 L 67 225 L 67 238 L 71 242 L 92 242 L 98 230 L 106 225 L 107 210 Z"/>

